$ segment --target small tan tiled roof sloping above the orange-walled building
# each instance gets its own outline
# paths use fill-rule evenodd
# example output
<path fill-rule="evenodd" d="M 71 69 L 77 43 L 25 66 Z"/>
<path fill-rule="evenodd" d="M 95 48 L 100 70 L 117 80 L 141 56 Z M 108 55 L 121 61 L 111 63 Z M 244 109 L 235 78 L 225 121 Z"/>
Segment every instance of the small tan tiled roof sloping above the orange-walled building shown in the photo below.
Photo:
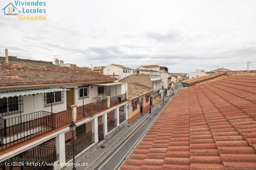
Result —
<path fill-rule="evenodd" d="M 133 99 L 150 91 L 152 91 L 151 88 L 143 86 L 137 82 L 128 83 L 128 99 Z"/>

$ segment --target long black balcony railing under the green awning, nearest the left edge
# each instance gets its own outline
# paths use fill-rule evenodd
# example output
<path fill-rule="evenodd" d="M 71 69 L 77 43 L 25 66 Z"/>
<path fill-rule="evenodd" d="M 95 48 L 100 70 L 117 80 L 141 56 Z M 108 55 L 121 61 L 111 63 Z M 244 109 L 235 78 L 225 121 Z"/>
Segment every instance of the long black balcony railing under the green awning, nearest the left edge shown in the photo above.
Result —
<path fill-rule="evenodd" d="M 59 113 L 39 111 L 8 119 L 0 118 L 0 151 L 67 125 L 71 120 L 71 110 Z"/>

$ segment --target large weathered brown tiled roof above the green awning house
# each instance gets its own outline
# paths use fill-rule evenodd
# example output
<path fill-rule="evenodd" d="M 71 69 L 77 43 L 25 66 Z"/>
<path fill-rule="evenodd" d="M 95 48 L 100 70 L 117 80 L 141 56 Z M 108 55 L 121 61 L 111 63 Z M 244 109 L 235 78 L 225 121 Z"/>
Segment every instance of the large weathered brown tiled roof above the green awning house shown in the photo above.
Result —
<path fill-rule="evenodd" d="M 113 82 L 116 78 L 78 67 L 44 67 L 0 63 L 0 86 L 68 82 Z"/>

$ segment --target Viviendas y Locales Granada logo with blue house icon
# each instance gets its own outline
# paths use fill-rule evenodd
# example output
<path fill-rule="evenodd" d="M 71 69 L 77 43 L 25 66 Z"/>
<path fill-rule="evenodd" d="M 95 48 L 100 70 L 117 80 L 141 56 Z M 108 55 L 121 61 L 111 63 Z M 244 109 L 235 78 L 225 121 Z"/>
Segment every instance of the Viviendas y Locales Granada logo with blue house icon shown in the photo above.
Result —
<path fill-rule="evenodd" d="M 46 2 L 14 0 L 2 9 L 4 15 L 16 15 L 20 21 L 46 20 Z"/>

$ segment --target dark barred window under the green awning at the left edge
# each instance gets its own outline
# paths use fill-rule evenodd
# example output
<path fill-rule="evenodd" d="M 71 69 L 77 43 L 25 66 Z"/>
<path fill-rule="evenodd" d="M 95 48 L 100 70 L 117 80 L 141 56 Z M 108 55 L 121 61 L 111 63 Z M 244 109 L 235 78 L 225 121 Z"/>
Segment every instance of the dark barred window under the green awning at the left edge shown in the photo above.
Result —
<path fill-rule="evenodd" d="M 22 96 L 14 96 L 0 99 L 0 113 L 2 113 L 2 116 L 21 112 L 23 112 Z"/>

